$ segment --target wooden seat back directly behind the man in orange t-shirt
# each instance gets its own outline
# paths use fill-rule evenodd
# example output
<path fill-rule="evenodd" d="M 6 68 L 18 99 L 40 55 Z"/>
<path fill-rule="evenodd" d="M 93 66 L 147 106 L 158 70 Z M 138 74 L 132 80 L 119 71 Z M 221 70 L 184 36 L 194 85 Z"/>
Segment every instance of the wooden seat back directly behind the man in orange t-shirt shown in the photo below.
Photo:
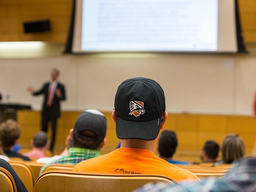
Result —
<path fill-rule="evenodd" d="M 98 174 L 54 170 L 45 172 L 38 178 L 34 192 L 130 192 L 149 182 L 175 183 L 171 178 L 159 175 Z"/>

